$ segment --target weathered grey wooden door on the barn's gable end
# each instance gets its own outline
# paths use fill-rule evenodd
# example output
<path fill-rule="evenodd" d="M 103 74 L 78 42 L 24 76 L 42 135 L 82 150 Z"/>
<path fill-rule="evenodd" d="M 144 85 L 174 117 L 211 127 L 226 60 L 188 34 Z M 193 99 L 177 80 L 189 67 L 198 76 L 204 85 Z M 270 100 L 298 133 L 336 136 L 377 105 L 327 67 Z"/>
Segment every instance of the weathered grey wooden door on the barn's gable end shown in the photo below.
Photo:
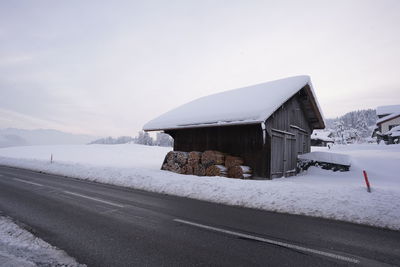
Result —
<path fill-rule="evenodd" d="M 272 130 L 271 178 L 296 174 L 296 136 L 289 132 Z"/>

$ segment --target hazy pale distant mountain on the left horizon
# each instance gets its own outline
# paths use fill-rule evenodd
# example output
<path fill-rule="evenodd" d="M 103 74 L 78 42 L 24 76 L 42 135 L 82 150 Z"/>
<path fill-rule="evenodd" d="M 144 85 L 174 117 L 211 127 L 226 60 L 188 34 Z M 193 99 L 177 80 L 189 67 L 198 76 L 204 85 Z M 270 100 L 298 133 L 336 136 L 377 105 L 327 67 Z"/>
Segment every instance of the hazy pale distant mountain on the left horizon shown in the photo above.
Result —
<path fill-rule="evenodd" d="M 26 145 L 79 145 L 87 144 L 95 136 L 71 134 L 51 129 L 0 129 L 0 147 Z"/>

